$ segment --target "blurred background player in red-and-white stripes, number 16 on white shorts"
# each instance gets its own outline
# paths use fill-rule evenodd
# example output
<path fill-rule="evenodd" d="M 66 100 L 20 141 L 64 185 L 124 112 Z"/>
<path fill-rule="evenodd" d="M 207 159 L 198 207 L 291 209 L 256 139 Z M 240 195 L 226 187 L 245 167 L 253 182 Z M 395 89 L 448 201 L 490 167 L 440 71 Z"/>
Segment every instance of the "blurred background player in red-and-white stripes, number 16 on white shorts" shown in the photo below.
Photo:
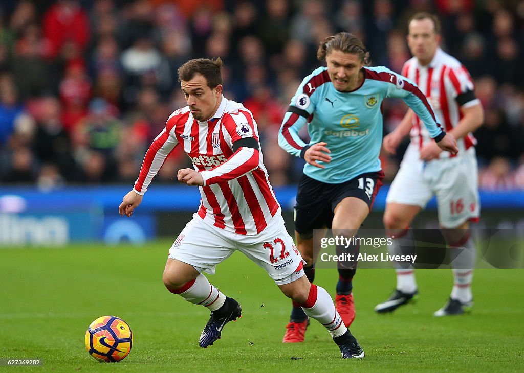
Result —
<path fill-rule="evenodd" d="M 402 75 L 419 85 L 446 131 L 457 139 L 460 152 L 454 155 L 439 149 L 422 126 L 425 119 L 408 111 L 399 126 L 384 138 L 385 150 L 395 153 L 402 139 L 411 134 L 411 143 L 386 199 L 384 225 L 395 235 L 389 246 L 391 252 L 412 252 L 413 236 L 408 227 L 436 196 L 439 224 L 452 259 L 454 286 L 449 301 L 434 315 L 462 314 L 473 306 L 471 281 L 476 249 L 468 221 L 478 220 L 479 200 L 472 132 L 482 125 L 484 111 L 473 92 L 470 74 L 439 47 L 439 19 L 418 13 L 408 25 L 413 58 L 403 66 Z M 377 312 L 393 311 L 417 296 L 412 266 L 398 263 L 396 272 L 397 288 L 387 301 L 377 304 Z"/>

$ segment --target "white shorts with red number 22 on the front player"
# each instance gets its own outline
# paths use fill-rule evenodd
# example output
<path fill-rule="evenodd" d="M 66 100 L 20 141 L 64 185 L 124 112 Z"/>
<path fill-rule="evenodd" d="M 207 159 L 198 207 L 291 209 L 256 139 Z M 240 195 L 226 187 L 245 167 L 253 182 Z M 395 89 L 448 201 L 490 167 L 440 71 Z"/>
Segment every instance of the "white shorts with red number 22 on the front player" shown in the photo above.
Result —
<path fill-rule="evenodd" d="M 264 268 L 278 284 L 284 285 L 304 275 L 303 262 L 280 214 L 256 235 L 224 231 L 193 214 L 169 249 L 169 257 L 188 263 L 199 272 L 215 273 L 215 267 L 235 250 Z M 300 268 L 300 269 L 298 269 Z"/>

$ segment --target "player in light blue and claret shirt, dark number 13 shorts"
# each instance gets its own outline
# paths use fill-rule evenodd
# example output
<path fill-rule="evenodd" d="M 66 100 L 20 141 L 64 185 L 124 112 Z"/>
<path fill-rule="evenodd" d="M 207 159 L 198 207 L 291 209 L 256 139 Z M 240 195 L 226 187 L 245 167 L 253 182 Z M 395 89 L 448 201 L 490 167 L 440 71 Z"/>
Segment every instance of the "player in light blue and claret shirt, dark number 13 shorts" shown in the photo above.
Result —
<path fill-rule="evenodd" d="M 440 127 L 416 84 L 386 67 L 365 67 L 369 53 L 357 37 L 340 32 L 325 38 L 317 57 L 327 67 L 304 78 L 278 135 L 283 149 L 306 162 L 297 192 L 295 236 L 311 282 L 320 248 L 313 242 L 313 230 L 322 232 L 315 235 L 317 239 L 326 228 L 351 238 L 373 206 L 384 175 L 378 155 L 383 134 L 380 107 L 385 98 L 402 98 L 424 119 L 440 148 L 458 151 L 455 139 Z M 309 144 L 298 135 L 306 124 Z M 357 247 L 352 250 L 356 252 Z M 347 326 L 355 317 L 352 278 L 356 269 L 355 263 L 347 262 L 338 267 L 335 302 Z M 308 323 L 300 304 L 293 303 L 283 342 L 302 342 Z"/>

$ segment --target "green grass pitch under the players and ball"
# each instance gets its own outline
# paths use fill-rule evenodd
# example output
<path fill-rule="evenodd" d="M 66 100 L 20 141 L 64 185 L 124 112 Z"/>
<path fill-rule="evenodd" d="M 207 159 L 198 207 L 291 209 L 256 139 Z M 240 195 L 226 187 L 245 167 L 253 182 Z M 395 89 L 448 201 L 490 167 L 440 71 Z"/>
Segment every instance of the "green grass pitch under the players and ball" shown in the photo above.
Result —
<path fill-rule="evenodd" d="M 199 348 L 209 311 L 163 287 L 170 244 L 0 249 L 0 358 L 44 360 L 41 367 L 0 371 L 524 370 L 524 270 L 477 270 L 473 312 L 434 318 L 449 297 L 451 270 L 418 270 L 418 303 L 379 315 L 373 307 L 394 288 L 394 271 L 361 269 L 354 280 L 351 331 L 366 357 L 344 360 L 314 320 L 304 343 L 281 343 L 290 301 L 240 253 L 209 278 L 241 302 L 243 317 L 228 324 L 213 346 Z M 336 278 L 334 269 L 320 269 L 315 282 L 333 294 Z M 106 314 L 124 319 L 134 333 L 131 353 L 116 364 L 97 362 L 84 347 L 88 325 Z"/>

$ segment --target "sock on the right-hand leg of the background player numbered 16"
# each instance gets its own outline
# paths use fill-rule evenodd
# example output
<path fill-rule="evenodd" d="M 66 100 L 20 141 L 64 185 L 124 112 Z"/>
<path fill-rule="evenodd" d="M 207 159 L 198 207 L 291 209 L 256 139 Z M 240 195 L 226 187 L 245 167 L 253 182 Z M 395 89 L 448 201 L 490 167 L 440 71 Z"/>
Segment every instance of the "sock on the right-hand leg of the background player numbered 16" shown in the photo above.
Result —
<path fill-rule="evenodd" d="M 473 299 L 471 291 L 471 281 L 473 280 L 473 267 L 477 254 L 475 242 L 466 232 L 464 243 L 460 242 L 455 247 L 451 246 L 451 265 L 453 267 L 453 290 L 451 298 L 462 303 L 470 302 Z"/>

